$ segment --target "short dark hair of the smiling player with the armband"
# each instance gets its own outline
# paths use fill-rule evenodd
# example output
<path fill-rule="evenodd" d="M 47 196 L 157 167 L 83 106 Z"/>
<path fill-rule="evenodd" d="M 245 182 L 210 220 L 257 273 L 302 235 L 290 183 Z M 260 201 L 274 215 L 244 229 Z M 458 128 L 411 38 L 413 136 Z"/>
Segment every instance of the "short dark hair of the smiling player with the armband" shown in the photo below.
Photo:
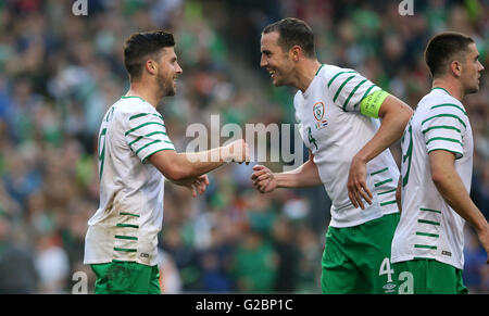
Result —
<path fill-rule="evenodd" d="M 294 45 L 300 46 L 305 56 L 314 58 L 316 55 L 314 49 L 314 34 L 312 28 L 302 20 L 297 17 L 286 17 L 267 25 L 263 29 L 263 34 L 277 31 L 280 37 L 278 45 L 288 51 Z"/>

